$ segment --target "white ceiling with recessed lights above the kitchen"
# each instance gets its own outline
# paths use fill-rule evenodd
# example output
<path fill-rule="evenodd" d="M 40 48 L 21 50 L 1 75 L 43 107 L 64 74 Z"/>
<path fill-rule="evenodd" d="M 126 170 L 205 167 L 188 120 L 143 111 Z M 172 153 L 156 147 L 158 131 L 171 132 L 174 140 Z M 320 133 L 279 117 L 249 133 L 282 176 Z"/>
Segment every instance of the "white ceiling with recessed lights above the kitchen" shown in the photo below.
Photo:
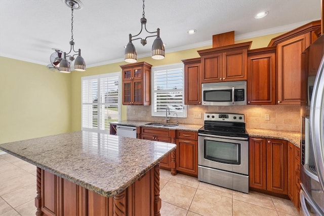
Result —
<path fill-rule="evenodd" d="M 81 0 L 73 39 L 87 67 L 124 61 L 129 34 L 140 31 L 141 0 Z M 166 53 L 212 45 L 212 35 L 235 31 L 235 40 L 294 29 L 320 19 L 321 0 L 146 0 L 147 29 L 160 28 Z M 255 19 L 266 10 L 268 16 Z M 188 35 L 190 28 L 197 33 Z M 146 37 L 143 33 L 141 36 Z M 52 48 L 69 50 L 71 10 L 62 0 L 0 0 L 0 55 L 47 65 Z M 150 55 L 154 38 L 138 58 Z"/>

